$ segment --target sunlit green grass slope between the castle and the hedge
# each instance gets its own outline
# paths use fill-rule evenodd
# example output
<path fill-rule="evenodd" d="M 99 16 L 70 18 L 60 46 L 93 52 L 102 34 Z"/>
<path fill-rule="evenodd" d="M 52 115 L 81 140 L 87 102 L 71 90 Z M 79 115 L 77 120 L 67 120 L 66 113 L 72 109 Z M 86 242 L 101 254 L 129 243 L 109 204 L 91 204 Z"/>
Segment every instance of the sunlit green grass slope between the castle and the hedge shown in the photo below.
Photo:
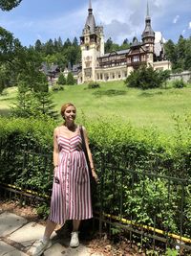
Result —
<path fill-rule="evenodd" d="M 123 81 L 100 83 L 100 88 L 88 89 L 83 85 L 65 85 L 64 91 L 53 92 L 53 102 L 59 111 L 61 105 L 72 102 L 80 119 L 108 119 L 111 122 L 131 122 L 136 127 L 156 127 L 172 132 L 173 116 L 191 112 L 191 86 L 181 89 L 138 90 L 127 88 Z M 15 88 L 0 96 L 0 113 L 9 109 L 16 97 Z"/>

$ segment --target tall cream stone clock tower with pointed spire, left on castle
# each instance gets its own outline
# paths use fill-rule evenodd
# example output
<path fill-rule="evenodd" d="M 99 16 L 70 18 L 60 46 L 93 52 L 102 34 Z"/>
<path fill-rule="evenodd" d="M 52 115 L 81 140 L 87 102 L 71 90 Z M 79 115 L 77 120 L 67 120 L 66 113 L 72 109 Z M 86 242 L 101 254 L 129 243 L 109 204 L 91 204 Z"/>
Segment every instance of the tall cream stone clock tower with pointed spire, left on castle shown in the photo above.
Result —
<path fill-rule="evenodd" d="M 103 27 L 96 26 L 92 2 L 89 1 L 88 17 L 80 36 L 82 82 L 96 81 L 97 58 L 104 55 Z"/>

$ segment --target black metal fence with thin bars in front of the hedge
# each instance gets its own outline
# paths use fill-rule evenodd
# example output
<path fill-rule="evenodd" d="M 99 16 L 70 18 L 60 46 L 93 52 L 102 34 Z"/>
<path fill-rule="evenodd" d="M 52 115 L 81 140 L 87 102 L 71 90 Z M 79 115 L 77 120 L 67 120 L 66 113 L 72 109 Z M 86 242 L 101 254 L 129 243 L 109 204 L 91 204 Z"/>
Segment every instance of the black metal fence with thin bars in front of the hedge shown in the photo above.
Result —
<path fill-rule="evenodd" d="M 53 156 L 50 152 L 0 144 L 0 192 L 21 203 L 50 201 Z M 125 234 L 140 246 L 175 246 L 191 251 L 191 180 L 140 171 L 96 159 L 99 183 L 93 193 L 99 233 Z M 95 188 L 93 188 L 94 190 Z"/>

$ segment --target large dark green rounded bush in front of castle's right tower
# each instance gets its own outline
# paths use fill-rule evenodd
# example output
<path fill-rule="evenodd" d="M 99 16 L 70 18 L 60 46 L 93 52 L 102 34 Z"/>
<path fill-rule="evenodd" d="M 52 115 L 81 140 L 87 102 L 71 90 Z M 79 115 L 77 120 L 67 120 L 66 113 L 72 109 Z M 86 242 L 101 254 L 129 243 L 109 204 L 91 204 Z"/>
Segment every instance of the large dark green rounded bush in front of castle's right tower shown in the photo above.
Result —
<path fill-rule="evenodd" d="M 142 65 L 127 77 L 125 83 L 129 87 L 151 89 L 160 87 L 169 77 L 169 72 L 154 70 L 152 66 Z"/>

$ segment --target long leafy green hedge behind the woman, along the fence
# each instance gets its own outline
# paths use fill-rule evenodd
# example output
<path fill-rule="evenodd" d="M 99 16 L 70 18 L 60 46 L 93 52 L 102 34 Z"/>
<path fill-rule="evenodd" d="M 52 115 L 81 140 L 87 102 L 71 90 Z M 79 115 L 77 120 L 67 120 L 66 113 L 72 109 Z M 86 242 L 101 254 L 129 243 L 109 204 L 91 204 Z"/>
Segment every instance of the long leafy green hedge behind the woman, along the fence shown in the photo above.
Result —
<path fill-rule="evenodd" d="M 179 177 L 190 180 L 191 117 L 186 116 L 184 121 L 177 118 L 177 133 L 171 140 L 155 129 L 137 129 L 117 121 L 87 123 L 84 120 L 83 125 L 89 133 L 96 172 L 104 184 L 103 211 L 118 216 L 119 195 L 122 195 L 124 218 L 140 224 L 155 222 L 157 228 L 179 233 L 183 193 L 182 228 L 183 234 L 188 235 L 191 232 L 190 186 L 182 188 L 176 180 Z M 51 196 L 56 126 L 51 118 L 0 118 L 1 182 Z M 175 178 L 169 183 L 168 178 L 156 175 Z M 44 210 L 46 207 L 39 212 Z"/>

